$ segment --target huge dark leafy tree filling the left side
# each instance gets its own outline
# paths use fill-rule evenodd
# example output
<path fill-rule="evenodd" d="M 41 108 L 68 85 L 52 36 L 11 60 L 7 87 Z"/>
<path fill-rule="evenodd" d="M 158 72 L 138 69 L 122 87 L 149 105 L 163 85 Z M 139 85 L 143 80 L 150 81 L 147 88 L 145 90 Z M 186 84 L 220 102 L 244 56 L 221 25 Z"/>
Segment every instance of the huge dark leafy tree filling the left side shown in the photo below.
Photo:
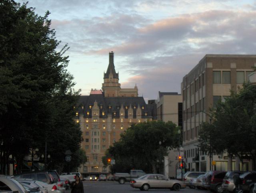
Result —
<path fill-rule="evenodd" d="M 63 165 L 66 150 L 80 148 L 81 131 L 73 120 L 80 91 L 72 89 L 68 47 L 58 48 L 48 15 L 0 1 L 0 173 L 14 161 L 20 171 L 30 150 L 44 154 L 45 142 L 52 167 Z"/>

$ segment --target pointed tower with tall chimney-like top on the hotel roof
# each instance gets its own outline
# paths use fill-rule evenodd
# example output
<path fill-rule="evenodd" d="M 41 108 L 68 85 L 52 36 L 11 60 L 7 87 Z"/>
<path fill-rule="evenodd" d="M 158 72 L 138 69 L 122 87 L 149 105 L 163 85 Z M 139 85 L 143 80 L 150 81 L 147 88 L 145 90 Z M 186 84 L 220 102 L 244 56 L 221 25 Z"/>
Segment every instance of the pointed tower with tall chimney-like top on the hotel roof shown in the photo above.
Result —
<path fill-rule="evenodd" d="M 119 74 L 116 73 L 114 66 L 114 52 L 109 53 L 109 64 L 107 72 L 104 73 L 104 83 L 102 84 L 102 91 L 105 97 L 118 97 L 120 91 Z"/>

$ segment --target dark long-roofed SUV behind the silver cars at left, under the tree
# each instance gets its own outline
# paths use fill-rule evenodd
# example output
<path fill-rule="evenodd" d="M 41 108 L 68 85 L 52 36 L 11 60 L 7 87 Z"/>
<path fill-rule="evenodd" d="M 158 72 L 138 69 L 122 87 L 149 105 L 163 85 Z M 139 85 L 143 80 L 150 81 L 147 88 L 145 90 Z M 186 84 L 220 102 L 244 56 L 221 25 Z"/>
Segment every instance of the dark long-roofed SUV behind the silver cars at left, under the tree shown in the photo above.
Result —
<path fill-rule="evenodd" d="M 48 171 L 34 171 L 29 173 L 21 173 L 13 176 L 14 179 L 34 179 L 48 184 L 54 183 L 54 178 Z"/>

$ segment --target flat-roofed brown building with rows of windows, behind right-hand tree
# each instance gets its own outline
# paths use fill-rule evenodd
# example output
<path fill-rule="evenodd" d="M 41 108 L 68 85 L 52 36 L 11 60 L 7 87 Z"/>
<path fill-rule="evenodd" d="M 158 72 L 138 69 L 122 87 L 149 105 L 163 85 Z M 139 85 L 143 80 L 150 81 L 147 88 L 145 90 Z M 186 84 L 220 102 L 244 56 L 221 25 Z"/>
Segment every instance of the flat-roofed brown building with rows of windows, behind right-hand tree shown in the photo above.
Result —
<path fill-rule="evenodd" d="M 256 66 L 256 55 L 207 54 L 183 77 L 183 147 L 188 171 L 210 170 L 209 157 L 198 147 L 198 130 L 202 122 L 210 122 L 209 108 L 248 81 L 252 66 Z M 250 160 L 245 160 L 244 168 L 238 158 L 227 155 L 214 155 L 213 160 L 216 170 L 251 169 Z"/>

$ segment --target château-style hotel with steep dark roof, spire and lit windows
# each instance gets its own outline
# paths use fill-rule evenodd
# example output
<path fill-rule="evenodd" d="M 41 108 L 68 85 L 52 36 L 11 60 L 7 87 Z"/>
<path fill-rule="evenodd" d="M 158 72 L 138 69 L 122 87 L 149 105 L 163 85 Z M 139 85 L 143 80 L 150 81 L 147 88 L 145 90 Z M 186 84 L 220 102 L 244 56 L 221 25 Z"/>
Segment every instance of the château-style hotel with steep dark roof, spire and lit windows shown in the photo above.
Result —
<path fill-rule="evenodd" d="M 146 104 L 138 97 L 138 88 L 121 89 L 119 73 L 114 67 L 114 53 L 109 53 L 109 64 L 104 73 L 102 90 L 92 90 L 89 96 L 81 96 L 76 112 L 80 124 L 87 162 L 79 171 L 84 176 L 107 174 L 109 168 L 102 163 L 102 156 L 114 142 L 120 139 L 132 123 L 156 120 L 156 103 Z"/>

